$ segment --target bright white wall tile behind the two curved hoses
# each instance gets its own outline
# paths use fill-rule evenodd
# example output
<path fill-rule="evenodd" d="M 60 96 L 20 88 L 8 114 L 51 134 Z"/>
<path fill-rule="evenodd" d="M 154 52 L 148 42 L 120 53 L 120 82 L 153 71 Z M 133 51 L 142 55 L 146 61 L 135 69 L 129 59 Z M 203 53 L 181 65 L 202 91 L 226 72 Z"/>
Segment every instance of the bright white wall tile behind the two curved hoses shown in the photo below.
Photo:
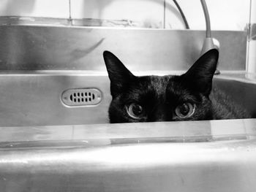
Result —
<path fill-rule="evenodd" d="M 211 17 L 211 28 L 214 30 L 244 30 L 249 23 L 250 0 L 206 0 Z M 255 0 L 253 0 L 255 1 Z M 184 28 L 183 21 L 172 0 L 166 0 L 167 28 Z M 205 29 L 205 18 L 199 0 L 178 0 L 187 17 L 190 28 Z"/>

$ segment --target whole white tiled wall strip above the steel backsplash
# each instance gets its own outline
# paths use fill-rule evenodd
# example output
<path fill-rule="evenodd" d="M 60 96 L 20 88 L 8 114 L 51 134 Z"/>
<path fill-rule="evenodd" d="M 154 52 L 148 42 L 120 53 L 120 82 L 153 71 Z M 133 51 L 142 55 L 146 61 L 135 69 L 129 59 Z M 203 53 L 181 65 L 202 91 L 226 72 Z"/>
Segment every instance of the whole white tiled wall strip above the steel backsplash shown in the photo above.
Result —
<path fill-rule="evenodd" d="M 0 15 L 69 17 L 69 0 L 0 1 Z M 192 29 L 204 29 L 205 21 L 200 0 L 177 1 L 187 16 L 189 26 Z M 249 23 L 249 1 L 206 0 L 212 28 L 244 30 L 246 23 Z M 72 18 L 135 20 L 146 27 L 162 28 L 165 24 L 166 28 L 184 28 L 172 0 L 71 0 L 71 7 Z"/>

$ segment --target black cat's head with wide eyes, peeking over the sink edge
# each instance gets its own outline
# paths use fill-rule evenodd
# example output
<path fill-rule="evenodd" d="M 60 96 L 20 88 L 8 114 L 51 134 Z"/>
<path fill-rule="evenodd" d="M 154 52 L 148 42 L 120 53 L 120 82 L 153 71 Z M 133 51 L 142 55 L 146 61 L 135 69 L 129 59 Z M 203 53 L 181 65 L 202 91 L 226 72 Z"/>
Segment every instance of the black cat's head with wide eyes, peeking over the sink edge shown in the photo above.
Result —
<path fill-rule="evenodd" d="M 103 53 L 110 78 L 110 123 L 209 120 L 212 78 L 219 52 L 209 50 L 181 76 L 137 77 L 108 51 Z"/>

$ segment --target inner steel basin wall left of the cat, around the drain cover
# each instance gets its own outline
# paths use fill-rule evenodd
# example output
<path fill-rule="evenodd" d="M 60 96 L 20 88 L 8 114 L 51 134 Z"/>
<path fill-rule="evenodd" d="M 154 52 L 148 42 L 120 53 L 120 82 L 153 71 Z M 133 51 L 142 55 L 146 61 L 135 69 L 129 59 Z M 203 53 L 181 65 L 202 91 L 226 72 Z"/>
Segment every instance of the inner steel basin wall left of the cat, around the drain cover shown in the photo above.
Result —
<path fill-rule="evenodd" d="M 107 76 L 75 72 L 0 74 L 0 126 L 49 126 L 108 123 Z M 97 88 L 104 97 L 95 107 L 66 107 L 69 89 Z M 4 120 L 5 119 L 5 120 Z"/>

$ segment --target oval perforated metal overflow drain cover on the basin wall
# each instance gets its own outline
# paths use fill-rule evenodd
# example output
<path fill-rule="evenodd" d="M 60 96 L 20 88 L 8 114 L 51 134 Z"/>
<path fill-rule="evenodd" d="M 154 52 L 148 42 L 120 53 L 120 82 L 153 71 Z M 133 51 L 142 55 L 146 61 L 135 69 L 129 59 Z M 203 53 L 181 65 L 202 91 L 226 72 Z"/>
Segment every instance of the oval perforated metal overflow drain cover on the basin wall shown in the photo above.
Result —
<path fill-rule="evenodd" d="M 64 91 L 61 100 L 68 106 L 96 105 L 102 100 L 102 93 L 97 88 L 78 88 Z"/>

